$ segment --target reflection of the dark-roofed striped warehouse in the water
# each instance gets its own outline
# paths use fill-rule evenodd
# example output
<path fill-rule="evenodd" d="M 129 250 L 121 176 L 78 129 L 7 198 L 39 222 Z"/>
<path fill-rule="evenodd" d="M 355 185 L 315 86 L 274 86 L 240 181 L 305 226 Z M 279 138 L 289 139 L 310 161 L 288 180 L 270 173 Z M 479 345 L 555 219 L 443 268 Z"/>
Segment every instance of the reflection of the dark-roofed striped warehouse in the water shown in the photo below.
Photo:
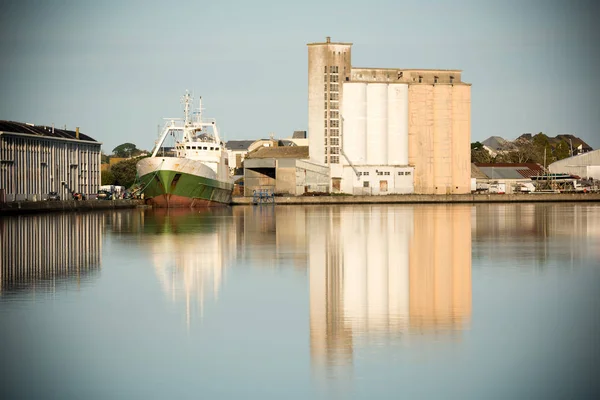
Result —
<path fill-rule="evenodd" d="M 53 292 L 100 269 L 99 213 L 51 213 L 0 218 L 0 294 Z"/>

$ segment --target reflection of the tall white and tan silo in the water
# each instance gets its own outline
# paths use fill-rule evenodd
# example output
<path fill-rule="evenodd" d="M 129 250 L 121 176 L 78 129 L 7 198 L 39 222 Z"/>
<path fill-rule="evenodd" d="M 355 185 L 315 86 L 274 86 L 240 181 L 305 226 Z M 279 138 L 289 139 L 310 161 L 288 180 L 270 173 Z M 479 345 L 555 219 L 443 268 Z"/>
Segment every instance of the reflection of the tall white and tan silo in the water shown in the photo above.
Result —
<path fill-rule="evenodd" d="M 465 328 L 471 209 L 361 205 L 307 214 L 313 365 L 351 364 L 359 340 Z"/>

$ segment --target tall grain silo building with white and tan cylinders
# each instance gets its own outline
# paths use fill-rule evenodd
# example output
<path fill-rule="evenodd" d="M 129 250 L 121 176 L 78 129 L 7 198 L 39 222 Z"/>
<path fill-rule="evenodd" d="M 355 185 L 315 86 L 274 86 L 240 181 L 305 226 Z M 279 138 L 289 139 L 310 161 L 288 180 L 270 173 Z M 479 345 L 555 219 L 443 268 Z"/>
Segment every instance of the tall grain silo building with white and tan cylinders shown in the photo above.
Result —
<path fill-rule="evenodd" d="M 352 43 L 308 44 L 310 159 L 330 190 L 469 193 L 471 85 L 459 70 L 358 68 Z"/>

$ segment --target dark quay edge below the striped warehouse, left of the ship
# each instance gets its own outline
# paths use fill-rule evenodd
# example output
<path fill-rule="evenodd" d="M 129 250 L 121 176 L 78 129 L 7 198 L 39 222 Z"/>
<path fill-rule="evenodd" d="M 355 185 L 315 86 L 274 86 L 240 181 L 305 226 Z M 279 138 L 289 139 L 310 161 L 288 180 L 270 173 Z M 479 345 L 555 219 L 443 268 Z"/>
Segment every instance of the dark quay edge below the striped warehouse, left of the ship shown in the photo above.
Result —
<path fill-rule="evenodd" d="M 13 201 L 0 203 L 0 216 L 53 211 L 110 210 L 136 208 L 143 205 L 143 200 Z"/>

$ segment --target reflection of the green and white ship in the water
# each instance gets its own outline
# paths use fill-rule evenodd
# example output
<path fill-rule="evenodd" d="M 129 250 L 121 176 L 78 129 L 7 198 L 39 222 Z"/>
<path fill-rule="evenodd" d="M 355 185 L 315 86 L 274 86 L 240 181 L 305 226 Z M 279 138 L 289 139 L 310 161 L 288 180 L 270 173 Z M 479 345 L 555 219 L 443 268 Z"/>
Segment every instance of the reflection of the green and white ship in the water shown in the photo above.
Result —
<path fill-rule="evenodd" d="M 143 232 L 152 235 L 153 263 L 173 302 L 185 302 L 186 323 L 203 315 L 204 301 L 217 300 L 225 268 L 236 254 L 236 229 L 229 207 L 155 209 L 144 213 Z"/>

